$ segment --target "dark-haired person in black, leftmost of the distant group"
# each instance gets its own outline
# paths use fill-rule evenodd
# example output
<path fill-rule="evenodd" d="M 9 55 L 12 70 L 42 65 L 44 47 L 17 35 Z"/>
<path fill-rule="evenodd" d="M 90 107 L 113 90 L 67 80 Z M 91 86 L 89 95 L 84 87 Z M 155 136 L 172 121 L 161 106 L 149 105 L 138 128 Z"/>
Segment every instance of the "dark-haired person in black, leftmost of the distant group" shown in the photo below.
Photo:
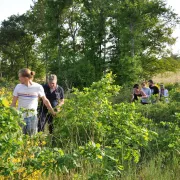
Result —
<path fill-rule="evenodd" d="M 132 99 L 131 99 L 131 101 L 132 102 L 138 101 L 139 98 L 147 98 L 147 95 L 142 90 L 140 90 L 139 84 L 135 84 L 133 86 L 133 92 L 132 92 Z"/>

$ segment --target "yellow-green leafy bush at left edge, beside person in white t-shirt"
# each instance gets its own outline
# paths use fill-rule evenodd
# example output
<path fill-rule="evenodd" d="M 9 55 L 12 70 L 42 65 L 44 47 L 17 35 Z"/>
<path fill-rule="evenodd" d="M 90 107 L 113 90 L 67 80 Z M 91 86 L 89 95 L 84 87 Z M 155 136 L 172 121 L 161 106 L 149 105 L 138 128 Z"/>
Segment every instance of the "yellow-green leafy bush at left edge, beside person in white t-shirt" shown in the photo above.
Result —
<path fill-rule="evenodd" d="M 18 112 L 9 108 L 4 99 L 0 99 L 0 172 L 3 175 L 10 175 L 14 170 L 13 163 L 8 161 L 10 156 L 18 151 L 22 139 L 19 132 L 21 130 L 19 124 L 20 115 Z"/>

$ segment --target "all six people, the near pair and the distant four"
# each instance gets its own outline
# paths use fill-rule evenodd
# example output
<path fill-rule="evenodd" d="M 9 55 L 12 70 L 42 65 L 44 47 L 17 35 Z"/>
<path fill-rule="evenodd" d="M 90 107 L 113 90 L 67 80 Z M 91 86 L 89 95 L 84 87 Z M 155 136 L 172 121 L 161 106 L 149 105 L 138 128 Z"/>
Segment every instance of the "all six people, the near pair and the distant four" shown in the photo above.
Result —
<path fill-rule="evenodd" d="M 35 72 L 27 68 L 19 71 L 20 84 L 14 89 L 11 106 L 16 107 L 18 101 L 18 110 L 22 111 L 24 119 L 22 127 L 24 134 L 33 135 L 44 131 L 46 123 L 49 124 L 49 133 L 52 134 L 53 117 L 64 104 L 64 90 L 57 84 L 56 75 L 51 74 L 45 85 L 33 82 L 34 75 Z M 132 102 L 140 99 L 142 104 L 149 104 L 155 103 L 163 97 L 168 102 L 168 90 L 163 84 L 159 89 L 152 80 L 149 80 L 148 83 L 149 87 L 146 87 L 146 82 L 143 82 L 141 87 L 139 84 L 134 85 Z M 155 97 L 155 99 L 151 99 L 151 97 Z M 40 104 L 39 98 L 41 99 Z"/>

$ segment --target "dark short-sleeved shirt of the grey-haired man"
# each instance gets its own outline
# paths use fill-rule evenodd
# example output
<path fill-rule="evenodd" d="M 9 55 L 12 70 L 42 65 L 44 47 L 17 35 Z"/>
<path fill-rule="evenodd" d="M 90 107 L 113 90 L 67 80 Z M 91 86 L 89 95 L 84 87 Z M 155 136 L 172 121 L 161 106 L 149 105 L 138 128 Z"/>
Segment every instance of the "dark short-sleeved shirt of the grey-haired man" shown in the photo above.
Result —
<path fill-rule="evenodd" d="M 64 90 L 61 86 L 57 85 L 56 89 L 52 92 L 48 84 L 43 85 L 43 88 L 45 95 L 53 108 L 59 104 L 59 100 L 64 99 Z M 43 103 L 41 103 L 40 110 L 43 110 L 44 112 L 47 111 L 47 108 L 43 105 Z"/>

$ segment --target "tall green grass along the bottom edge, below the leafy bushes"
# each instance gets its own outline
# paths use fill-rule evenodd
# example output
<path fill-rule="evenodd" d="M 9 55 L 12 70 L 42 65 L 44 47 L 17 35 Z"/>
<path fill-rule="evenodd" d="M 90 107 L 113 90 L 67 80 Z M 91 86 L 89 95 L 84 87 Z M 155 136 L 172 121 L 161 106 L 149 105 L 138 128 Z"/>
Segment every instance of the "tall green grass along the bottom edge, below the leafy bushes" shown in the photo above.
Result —
<path fill-rule="evenodd" d="M 106 180 L 101 177 L 91 177 L 92 172 L 98 173 L 99 167 L 90 164 L 84 164 L 79 172 L 70 172 L 69 174 L 51 174 L 43 180 Z M 180 164 L 179 156 L 174 156 L 171 162 L 165 163 L 164 158 L 159 155 L 151 160 L 144 160 L 139 164 L 132 164 L 126 171 L 122 172 L 121 177 L 112 178 L 112 180 L 179 180 Z M 110 180 L 109 178 L 107 180 Z"/>

